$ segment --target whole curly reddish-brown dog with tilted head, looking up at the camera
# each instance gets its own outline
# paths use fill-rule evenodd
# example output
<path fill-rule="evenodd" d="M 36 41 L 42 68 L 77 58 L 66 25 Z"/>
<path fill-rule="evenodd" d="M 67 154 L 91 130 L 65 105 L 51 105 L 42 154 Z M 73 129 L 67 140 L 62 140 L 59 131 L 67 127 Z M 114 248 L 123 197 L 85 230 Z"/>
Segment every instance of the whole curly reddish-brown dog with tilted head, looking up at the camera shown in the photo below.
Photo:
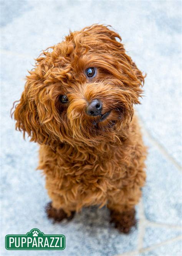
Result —
<path fill-rule="evenodd" d="M 61 221 L 82 207 L 107 205 L 116 228 L 128 233 L 146 179 L 133 109 L 144 76 L 121 37 L 104 25 L 70 32 L 29 73 L 14 118 L 40 144 L 48 216 Z"/>

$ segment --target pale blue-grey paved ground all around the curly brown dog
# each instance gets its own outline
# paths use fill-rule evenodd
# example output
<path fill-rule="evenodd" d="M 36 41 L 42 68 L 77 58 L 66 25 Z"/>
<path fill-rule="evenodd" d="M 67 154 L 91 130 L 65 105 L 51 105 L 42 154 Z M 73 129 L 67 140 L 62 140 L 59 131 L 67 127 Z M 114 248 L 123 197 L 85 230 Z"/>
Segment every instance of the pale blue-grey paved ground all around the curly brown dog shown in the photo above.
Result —
<path fill-rule="evenodd" d="M 1 0 L 2 173 L 0 255 L 182 255 L 181 2 Z M 14 129 L 10 109 L 20 98 L 27 69 L 42 49 L 69 29 L 110 24 L 128 54 L 147 73 L 137 107 L 149 146 L 147 184 L 137 206 L 137 229 L 120 234 L 106 208 L 84 209 L 71 222 L 52 224 L 44 207 L 44 177 L 35 171 L 38 146 Z M 38 228 L 65 234 L 64 251 L 7 251 L 5 235 Z"/>

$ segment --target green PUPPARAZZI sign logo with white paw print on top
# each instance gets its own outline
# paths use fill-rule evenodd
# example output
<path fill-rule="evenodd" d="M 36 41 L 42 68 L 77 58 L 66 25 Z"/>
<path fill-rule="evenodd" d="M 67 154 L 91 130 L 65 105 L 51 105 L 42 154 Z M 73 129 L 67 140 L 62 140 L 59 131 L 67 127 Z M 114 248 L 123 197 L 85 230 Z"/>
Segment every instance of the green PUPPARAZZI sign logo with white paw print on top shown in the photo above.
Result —
<path fill-rule="evenodd" d="M 7 250 L 63 250 L 64 235 L 45 235 L 39 229 L 33 228 L 26 235 L 7 235 L 5 237 Z"/>

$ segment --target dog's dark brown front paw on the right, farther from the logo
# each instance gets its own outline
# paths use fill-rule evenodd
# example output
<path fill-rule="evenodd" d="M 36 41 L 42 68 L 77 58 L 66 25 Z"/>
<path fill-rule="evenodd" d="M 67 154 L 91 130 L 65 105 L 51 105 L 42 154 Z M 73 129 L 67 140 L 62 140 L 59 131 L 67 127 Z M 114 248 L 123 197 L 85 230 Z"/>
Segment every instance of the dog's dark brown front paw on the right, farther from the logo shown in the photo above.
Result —
<path fill-rule="evenodd" d="M 115 228 L 117 228 L 122 233 L 129 233 L 133 226 L 136 226 L 135 219 L 135 209 L 129 211 L 117 212 L 111 210 L 110 213 L 111 222 L 114 223 Z"/>

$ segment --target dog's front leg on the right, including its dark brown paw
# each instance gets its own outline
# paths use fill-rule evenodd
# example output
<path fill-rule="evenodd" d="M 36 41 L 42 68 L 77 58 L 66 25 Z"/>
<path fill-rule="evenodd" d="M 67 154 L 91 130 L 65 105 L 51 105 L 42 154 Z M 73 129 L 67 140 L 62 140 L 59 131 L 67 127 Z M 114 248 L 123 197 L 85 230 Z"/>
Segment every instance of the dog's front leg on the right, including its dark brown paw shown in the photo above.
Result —
<path fill-rule="evenodd" d="M 108 208 L 111 222 L 122 233 L 129 233 L 136 226 L 135 205 L 141 197 L 140 187 L 125 188 L 109 195 Z"/>

